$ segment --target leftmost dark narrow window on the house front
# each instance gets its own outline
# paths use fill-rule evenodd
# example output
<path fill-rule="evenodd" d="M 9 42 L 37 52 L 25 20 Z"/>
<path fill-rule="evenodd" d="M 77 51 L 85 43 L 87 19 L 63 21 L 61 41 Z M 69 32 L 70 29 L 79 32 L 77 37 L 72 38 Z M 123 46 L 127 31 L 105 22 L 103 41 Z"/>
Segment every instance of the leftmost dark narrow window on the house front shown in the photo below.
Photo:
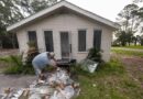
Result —
<path fill-rule="evenodd" d="M 28 35 L 29 35 L 29 42 L 34 43 L 35 47 L 37 47 L 36 32 L 35 31 L 29 31 Z"/>

